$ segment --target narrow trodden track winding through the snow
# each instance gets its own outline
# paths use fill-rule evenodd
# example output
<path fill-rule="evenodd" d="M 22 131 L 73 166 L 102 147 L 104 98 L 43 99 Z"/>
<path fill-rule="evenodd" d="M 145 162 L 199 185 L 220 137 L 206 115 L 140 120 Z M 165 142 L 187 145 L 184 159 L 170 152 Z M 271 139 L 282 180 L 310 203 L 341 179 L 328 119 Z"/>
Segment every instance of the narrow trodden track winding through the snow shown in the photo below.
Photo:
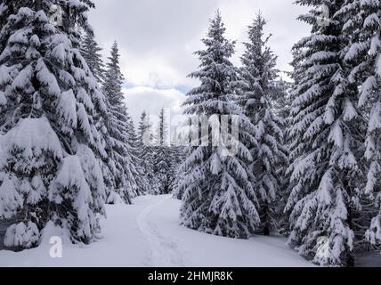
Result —
<path fill-rule="evenodd" d="M 148 205 L 142 209 L 139 216 L 136 217 L 142 236 L 150 245 L 149 265 L 159 267 L 181 267 L 182 257 L 177 249 L 177 245 L 173 240 L 163 238 L 158 231 L 158 226 L 150 220 L 152 210 L 160 207 L 166 200 L 171 197 L 160 197 L 157 203 Z"/>

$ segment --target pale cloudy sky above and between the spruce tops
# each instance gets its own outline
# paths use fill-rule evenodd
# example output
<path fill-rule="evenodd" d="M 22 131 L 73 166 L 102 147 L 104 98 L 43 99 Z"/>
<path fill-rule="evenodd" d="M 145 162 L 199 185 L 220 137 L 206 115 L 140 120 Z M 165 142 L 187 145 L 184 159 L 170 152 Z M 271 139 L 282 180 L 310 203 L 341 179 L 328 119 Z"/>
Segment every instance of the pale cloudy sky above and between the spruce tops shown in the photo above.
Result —
<path fill-rule="evenodd" d="M 290 70 L 290 50 L 309 28 L 296 20 L 304 8 L 294 0 L 94 0 L 96 9 L 90 22 L 107 57 L 117 40 L 121 65 L 126 76 L 126 103 L 136 120 L 142 110 L 157 115 L 170 108 L 181 113 L 187 91 L 198 84 L 187 78 L 199 61 L 192 53 L 202 48 L 209 19 L 219 9 L 227 37 L 237 40 L 239 64 L 247 26 L 261 11 L 268 20 L 270 45 L 279 55 L 279 68 Z"/>

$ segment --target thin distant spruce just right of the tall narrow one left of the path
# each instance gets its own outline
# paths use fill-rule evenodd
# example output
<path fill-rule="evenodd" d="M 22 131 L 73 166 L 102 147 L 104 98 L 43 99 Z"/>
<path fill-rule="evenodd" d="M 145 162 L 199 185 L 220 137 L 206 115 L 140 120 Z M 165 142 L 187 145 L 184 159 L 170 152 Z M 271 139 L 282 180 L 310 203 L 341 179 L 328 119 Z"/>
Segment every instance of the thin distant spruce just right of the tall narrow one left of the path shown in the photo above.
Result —
<path fill-rule="evenodd" d="M 150 185 L 148 193 L 156 195 L 159 194 L 159 190 L 158 179 L 154 171 L 154 148 L 151 128 L 150 116 L 146 111 L 143 111 L 138 128 L 138 156 L 142 160 L 143 175 Z"/>

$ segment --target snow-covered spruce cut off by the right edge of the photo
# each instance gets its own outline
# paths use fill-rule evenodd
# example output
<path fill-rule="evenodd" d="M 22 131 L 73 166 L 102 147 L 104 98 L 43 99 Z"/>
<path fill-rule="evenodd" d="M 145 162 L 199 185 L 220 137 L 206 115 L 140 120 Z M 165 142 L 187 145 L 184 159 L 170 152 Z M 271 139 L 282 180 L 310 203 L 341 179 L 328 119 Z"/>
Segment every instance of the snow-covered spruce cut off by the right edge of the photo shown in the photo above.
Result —
<path fill-rule="evenodd" d="M 345 22 L 343 33 L 350 38 L 345 50 L 345 63 L 352 67 L 348 80 L 361 86 L 359 107 L 368 118 L 365 158 L 369 173 L 365 194 L 375 207 L 361 211 L 368 226 L 367 238 L 373 245 L 381 245 L 381 6 L 378 1 L 346 0 L 339 13 Z M 373 220 L 372 220 L 373 219 Z"/>

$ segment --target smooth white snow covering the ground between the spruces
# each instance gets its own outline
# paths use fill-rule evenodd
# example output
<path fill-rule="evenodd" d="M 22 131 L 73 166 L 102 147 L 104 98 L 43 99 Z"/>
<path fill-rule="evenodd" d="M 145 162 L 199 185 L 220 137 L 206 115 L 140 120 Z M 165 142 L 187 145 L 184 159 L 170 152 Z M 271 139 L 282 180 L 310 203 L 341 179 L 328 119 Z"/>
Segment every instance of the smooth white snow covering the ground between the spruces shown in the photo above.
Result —
<path fill-rule="evenodd" d="M 184 228 L 179 208 L 180 201 L 169 195 L 140 197 L 132 206 L 108 206 L 102 238 L 88 246 L 70 244 L 65 232 L 49 224 L 39 248 L 1 250 L 0 266 L 312 266 L 282 237 L 233 240 Z M 50 256 L 53 236 L 63 236 L 62 258 Z"/>

